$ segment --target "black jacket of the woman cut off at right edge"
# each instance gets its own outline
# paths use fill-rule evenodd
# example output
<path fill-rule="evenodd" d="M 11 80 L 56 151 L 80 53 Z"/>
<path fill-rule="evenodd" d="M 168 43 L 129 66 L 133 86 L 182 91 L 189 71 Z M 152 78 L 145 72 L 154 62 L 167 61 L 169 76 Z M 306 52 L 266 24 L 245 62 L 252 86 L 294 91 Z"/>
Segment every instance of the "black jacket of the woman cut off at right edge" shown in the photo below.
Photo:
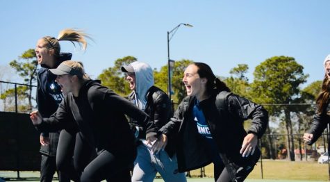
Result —
<path fill-rule="evenodd" d="M 324 108 L 324 111 L 322 113 L 317 113 L 317 111 L 315 112 L 313 122 L 311 124 L 311 129 L 309 129 L 309 131 L 307 132 L 313 134 L 313 139 L 311 140 L 311 142 L 307 142 L 307 144 L 311 145 L 316 142 L 316 140 L 322 135 L 324 129 L 327 128 L 328 124 L 330 123 L 330 115 L 327 115 L 328 112 L 330 112 L 329 101 L 328 106 Z M 328 142 L 328 151 L 330 149 L 329 144 L 330 141 Z"/>

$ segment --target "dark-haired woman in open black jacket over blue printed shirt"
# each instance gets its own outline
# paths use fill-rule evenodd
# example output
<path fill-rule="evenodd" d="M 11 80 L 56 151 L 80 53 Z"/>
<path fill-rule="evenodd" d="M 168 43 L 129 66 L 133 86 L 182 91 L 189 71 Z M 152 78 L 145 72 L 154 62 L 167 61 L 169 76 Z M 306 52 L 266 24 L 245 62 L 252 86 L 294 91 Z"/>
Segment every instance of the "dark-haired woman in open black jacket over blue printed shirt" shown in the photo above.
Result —
<path fill-rule="evenodd" d="M 152 150 L 158 153 L 178 134 L 179 172 L 213 163 L 215 181 L 244 181 L 261 155 L 257 144 L 267 127 L 267 110 L 231 93 L 205 63 L 189 65 L 182 81 L 188 97 L 159 130 Z M 252 122 L 245 131 L 247 119 Z"/>

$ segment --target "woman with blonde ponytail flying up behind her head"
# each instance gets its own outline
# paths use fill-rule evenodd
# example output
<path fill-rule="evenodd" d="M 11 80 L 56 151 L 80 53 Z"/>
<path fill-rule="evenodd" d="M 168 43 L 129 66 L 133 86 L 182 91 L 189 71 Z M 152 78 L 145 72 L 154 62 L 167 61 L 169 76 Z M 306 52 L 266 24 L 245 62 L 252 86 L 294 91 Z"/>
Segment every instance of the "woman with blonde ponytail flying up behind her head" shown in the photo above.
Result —
<path fill-rule="evenodd" d="M 83 33 L 83 31 L 67 28 L 60 31 L 58 38 L 44 36 L 38 40 L 35 55 L 41 68 L 38 71 L 37 103 L 38 110 L 43 117 L 50 117 L 55 113 L 64 98 L 60 86 L 55 81 L 56 75 L 49 72 L 49 69 L 56 68 L 64 60 L 71 60 L 72 58 L 72 53 L 60 52 L 60 42 L 70 41 L 74 46 L 79 44 L 85 50 L 87 47 L 86 38 L 90 37 Z M 56 158 L 56 149 L 60 135 L 61 138 L 67 139 L 64 140 L 63 145 L 68 146 L 67 150 L 71 149 L 69 146 L 72 146 L 72 143 L 74 143 L 74 139 L 76 138 L 75 132 L 75 129 L 72 129 L 63 131 L 61 134 L 60 131 L 40 134 L 40 153 L 42 154 L 40 181 L 52 181 L 53 174 L 56 171 L 56 160 L 58 160 L 60 166 L 65 166 L 63 163 L 68 160 L 67 158 L 72 158 L 72 156 L 68 157 L 64 155 L 63 158 Z M 70 174 L 74 173 L 72 172 Z M 70 181 L 69 178 L 69 175 L 66 175 L 65 172 L 58 172 L 59 181 Z"/>

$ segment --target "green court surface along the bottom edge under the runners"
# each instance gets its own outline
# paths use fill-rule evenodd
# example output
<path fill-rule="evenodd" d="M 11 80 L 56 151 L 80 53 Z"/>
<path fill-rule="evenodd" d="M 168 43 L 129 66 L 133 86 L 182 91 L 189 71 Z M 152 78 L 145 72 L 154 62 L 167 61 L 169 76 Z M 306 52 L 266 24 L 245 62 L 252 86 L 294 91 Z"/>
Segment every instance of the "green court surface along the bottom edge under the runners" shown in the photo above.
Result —
<path fill-rule="evenodd" d="M 20 179 L 17 179 L 17 172 L 14 171 L 0 171 L 0 182 L 1 178 L 5 181 L 40 181 L 39 179 L 40 172 L 19 172 Z M 55 174 L 56 176 L 56 174 Z M 57 179 L 53 181 L 58 181 Z M 156 178 L 155 182 L 163 181 L 163 179 Z M 212 178 L 188 178 L 188 182 L 213 182 Z M 247 182 L 320 182 L 320 181 L 301 181 L 301 180 L 274 180 L 274 179 L 247 179 Z"/>

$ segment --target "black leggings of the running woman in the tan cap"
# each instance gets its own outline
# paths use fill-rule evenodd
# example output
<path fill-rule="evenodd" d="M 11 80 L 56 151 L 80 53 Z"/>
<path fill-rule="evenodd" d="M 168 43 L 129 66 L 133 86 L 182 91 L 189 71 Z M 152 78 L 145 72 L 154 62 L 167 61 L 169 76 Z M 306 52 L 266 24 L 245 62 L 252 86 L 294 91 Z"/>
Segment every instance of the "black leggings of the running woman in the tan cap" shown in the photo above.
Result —
<path fill-rule="evenodd" d="M 61 132 L 60 141 L 56 162 L 58 167 L 71 174 L 72 180 L 131 181 L 129 165 L 133 163 L 133 156 L 118 158 L 107 150 L 97 154 L 79 132 Z"/>

